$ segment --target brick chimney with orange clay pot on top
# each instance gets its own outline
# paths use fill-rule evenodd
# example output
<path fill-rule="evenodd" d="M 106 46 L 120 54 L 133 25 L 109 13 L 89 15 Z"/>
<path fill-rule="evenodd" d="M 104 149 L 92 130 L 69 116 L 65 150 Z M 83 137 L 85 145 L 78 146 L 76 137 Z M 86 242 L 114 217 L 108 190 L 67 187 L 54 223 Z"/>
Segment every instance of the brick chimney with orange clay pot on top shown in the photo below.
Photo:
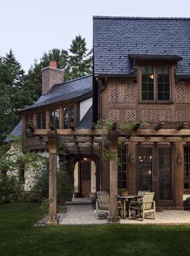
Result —
<path fill-rule="evenodd" d="M 64 82 L 64 70 L 57 69 L 56 61 L 50 61 L 49 66 L 42 69 L 42 94 L 61 82 Z"/>

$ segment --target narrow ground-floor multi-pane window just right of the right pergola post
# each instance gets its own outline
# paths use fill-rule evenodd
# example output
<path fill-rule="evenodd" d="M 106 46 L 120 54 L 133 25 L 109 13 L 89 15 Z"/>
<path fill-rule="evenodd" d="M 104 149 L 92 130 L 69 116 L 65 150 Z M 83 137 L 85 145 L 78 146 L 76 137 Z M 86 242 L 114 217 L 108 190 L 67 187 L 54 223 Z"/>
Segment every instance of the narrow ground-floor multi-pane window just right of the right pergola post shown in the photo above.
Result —
<path fill-rule="evenodd" d="M 127 188 L 126 146 L 118 147 L 118 189 Z"/>

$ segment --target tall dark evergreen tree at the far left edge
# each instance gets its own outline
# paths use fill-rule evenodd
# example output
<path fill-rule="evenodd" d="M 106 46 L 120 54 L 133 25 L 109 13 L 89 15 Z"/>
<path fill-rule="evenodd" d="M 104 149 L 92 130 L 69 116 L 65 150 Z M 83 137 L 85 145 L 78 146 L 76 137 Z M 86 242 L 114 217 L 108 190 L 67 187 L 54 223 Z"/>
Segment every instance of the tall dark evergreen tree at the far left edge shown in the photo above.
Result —
<path fill-rule="evenodd" d="M 0 58 L 0 133 L 8 133 L 18 123 L 19 108 L 26 107 L 30 97 L 25 86 L 24 71 L 10 50 Z"/>

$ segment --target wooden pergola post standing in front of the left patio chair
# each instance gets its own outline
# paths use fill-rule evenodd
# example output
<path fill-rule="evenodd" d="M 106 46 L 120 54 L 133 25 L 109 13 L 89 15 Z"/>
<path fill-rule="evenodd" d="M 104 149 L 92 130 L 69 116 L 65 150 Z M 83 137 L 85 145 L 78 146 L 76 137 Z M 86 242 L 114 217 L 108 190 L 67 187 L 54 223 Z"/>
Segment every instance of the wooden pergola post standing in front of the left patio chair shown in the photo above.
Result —
<path fill-rule="evenodd" d="M 109 162 L 109 218 L 110 221 L 118 220 L 118 132 L 109 131 L 109 149 L 115 153 L 114 159 Z"/>

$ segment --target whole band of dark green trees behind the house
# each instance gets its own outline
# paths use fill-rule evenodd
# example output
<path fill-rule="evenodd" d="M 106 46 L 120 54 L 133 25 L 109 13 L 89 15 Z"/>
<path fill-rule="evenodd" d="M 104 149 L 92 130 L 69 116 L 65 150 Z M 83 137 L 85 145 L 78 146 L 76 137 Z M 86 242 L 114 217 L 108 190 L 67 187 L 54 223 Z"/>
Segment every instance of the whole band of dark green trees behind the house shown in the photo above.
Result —
<path fill-rule="evenodd" d="M 27 74 L 11 49 L 6 57 L 0 57 L 0 135 L 8 134 L 18 124 L 19 109 L 39 99 L 41 69 L 52 60 L 56 61 L 58 69 L 64 69 L 64 81 L 92 73 L 92 51 L 88 51 L 85 39 L 80 35 L 72 40 L 68 50 L 53 48 L 44 52 L 39 62 L 35 60 L 34 65 L 31 65 Z"/>

